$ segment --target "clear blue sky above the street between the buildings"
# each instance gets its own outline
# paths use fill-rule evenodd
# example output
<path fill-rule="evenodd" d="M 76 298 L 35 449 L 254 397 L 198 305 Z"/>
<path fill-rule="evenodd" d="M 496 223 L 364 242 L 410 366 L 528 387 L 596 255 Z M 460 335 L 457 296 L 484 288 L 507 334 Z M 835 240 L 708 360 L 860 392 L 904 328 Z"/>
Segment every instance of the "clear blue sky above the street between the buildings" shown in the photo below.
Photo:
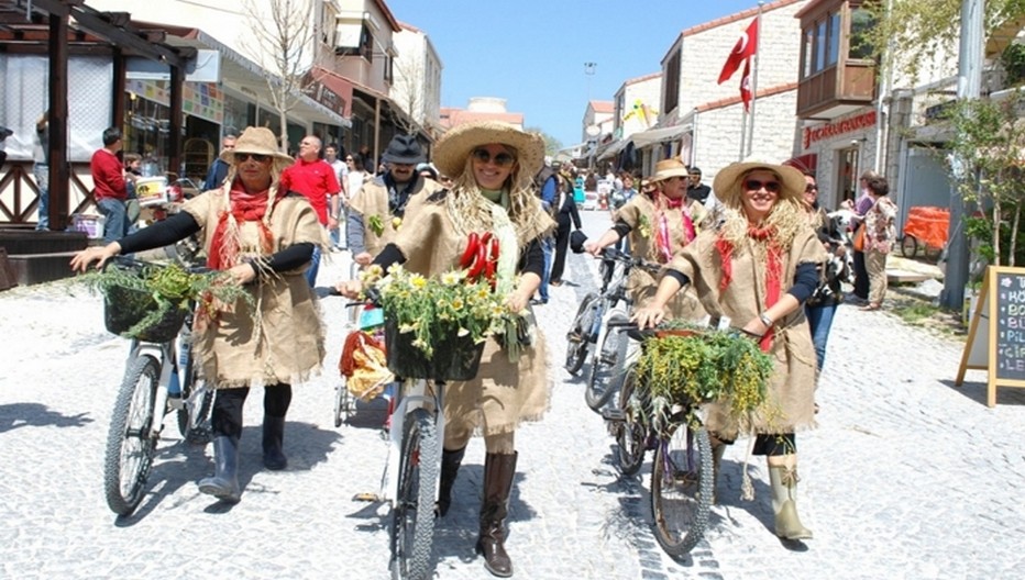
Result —
<path fill-rule="evenodd" d="M 444 67 L 441 105 L 507 99 L 562 145 L 580 143 L 593 100 L 627 79 L 661 71 L 684 29 L 758 8 L 757 0 L 387 0 L 395 18 L 430 36 Z M 737 23 L 737 36 L 746 23 Z M 727 55 L 708 55 L 717 69 Z M 584 63 L 596 63 L 594 75 Z M 588 87 L 589 85 L 589 87 Z M 589 90 L 588 90 L 589 89 Z"/>

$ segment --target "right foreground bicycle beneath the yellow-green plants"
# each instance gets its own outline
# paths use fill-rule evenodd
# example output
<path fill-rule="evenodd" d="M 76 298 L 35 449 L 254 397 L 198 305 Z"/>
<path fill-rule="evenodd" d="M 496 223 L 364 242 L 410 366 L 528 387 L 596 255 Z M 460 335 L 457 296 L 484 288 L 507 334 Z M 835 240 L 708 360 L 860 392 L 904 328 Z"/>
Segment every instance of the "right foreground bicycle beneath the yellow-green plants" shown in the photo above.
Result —
<path fill-rule="evenodd" d="M 663 335 L 662 331 L 639 331 L 629 322 L 610 322 L 609 326 L 630 335 L 641 348 Z M 696 405 L 674 404 L 669 426 L 657 431 L 649 419 L 653 406 L 644 381 L 631 365 L 622 381 L 619 404 L 603 414 L 616 437 L 617 467 L 622 475 L 639 471 L 647 450 L 654 450 L 651 467 L 654 536 L 666 554 L 680 558 L 701 542 L 708 524 L 715 486 L 712 442 Z"/>

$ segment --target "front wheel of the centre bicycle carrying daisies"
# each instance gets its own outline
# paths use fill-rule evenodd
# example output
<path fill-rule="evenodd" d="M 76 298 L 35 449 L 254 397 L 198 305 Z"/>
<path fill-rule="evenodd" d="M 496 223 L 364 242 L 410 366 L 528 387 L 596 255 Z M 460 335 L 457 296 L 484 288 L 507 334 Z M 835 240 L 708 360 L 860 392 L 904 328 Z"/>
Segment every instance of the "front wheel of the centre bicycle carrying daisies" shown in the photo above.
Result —
<path fill-rule="evenodd" d="M 434 419 L 427 410 L 415 409 L 406 415 L 392 511 L 392 577 L 396 580 L 421 580 L 433 573 L 439 445 Z"/>

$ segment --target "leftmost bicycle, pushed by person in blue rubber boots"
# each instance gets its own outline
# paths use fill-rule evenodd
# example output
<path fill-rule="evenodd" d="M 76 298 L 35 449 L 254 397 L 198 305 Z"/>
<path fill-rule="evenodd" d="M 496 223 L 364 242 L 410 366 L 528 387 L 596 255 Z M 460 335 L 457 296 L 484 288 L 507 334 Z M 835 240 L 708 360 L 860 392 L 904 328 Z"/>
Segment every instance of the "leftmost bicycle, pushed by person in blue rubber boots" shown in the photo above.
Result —
<path fill-rule="evenodd" d="M 142 276 L 162 266 L 117 258 L 108 267 Z M 140 293 L 134 289 L 111 289 L 107 293 L 103 309 L 108 331 L 120 335 L 141 320 L 145 312 L 125 308 L 132 298 L 137 304 Z M 186 440 L 209 442 L 213 390 L 199 379 L 189 353 L 194 320 L 195 304 L 188 310 L 172 309 L 158 324 L 131 341 L 103 458 L 107 505 L 118 515 L 131 514 L 142 501 L 167 414 L 177 414 L 178 431 Z"/>

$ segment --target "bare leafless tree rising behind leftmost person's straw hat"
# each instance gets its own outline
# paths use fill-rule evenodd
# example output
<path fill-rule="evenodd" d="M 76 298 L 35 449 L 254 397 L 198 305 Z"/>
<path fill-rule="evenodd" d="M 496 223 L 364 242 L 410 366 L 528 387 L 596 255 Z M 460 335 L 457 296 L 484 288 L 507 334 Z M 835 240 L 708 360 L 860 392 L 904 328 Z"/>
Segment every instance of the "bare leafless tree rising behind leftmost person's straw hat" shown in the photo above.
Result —
<path fill-rule="evenodd" d="M 243 0 L 252 24 L 241 45 L 271 75 L 271 105 L 280 123 L 282 150 L 288 152 L 288 113 L 309 83 L 307 71 L 315 46 L 311 0 Z M 310 56 L 310 58 L 308 58 Z"/>

